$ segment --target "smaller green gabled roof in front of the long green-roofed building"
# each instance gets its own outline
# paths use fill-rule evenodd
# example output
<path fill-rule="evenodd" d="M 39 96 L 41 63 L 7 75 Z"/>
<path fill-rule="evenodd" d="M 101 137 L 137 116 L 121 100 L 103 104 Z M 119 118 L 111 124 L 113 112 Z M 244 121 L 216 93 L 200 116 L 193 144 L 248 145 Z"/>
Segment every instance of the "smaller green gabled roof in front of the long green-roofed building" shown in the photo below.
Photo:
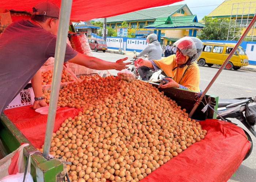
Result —
<path fill-rule="evenodd" d="M 155 28 L 155 29 L 172 29 L 177 27 L 197 27 L 203 28 L 205 25 L 197 22 L 196 15 L 189 16 L 169 16 L 166 18 L 158 18 L 153 24 L 147 25 L 144 28 Z"/>

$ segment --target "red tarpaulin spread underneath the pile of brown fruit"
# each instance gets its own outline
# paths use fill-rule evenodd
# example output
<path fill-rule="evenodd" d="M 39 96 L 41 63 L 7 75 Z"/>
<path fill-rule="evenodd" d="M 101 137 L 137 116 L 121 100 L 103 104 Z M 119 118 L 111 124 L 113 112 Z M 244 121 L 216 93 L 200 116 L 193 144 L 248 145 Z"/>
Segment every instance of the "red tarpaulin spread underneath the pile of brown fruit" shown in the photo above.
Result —
<path fill-rule="evenodd" d="M 74 117 L 81 109 L 57 110 L 54 131 L 64 119 Z M 35 146 L 44 143 L 47 115 L 35 112 L 30 106 L 5 110 L 4 113 Z M 242 163 L 250 143 L 244 131 L 229 122 L 207 119 L 200 122 L 207 130 L 206 137 L 174 157 L 141 182 L 222 182 L 227 181 Z"/>

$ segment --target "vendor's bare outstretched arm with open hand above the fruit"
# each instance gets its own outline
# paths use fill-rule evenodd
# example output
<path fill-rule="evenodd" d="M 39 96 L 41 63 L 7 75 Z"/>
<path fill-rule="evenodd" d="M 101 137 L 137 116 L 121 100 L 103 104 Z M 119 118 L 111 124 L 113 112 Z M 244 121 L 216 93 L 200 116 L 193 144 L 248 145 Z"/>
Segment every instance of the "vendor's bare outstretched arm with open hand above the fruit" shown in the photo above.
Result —
<path fill-rule="evenodd" d="M 128 58 L 119 59 L 115 63 L 113 63 L 104 61 L 99 58 L 86 56 L 78 52 L 78 54 L 74 58 L 70 59 L 68 62 L 79 64 L 81 66 L 85 66 L 94 70 L 123 70 L 125 68 L 128 68 L 128 66 L 126 65 L 131 64 L 131 62 L 123 63 L 127 59 Z"/>

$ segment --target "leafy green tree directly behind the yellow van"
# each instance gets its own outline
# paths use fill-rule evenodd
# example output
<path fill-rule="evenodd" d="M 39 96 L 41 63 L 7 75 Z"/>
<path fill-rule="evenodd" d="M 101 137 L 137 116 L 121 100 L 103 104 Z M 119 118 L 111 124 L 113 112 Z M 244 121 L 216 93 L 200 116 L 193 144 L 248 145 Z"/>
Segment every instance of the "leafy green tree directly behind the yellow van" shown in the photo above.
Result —
<path fill-rule="evenodd" d="M 212 18 L 208 16 L 203 17 L 205 27 L 202 29 L 202 33 L 199 39 L 202 40 L 227 40 L 227 34 L 229 31 L 235 31 L 235 39 L 229 38 L 229 40 L 238 40 L 241 32 L 240 28 L 235 25 L 234 21 L 230 22 L 230 18 Z"/>

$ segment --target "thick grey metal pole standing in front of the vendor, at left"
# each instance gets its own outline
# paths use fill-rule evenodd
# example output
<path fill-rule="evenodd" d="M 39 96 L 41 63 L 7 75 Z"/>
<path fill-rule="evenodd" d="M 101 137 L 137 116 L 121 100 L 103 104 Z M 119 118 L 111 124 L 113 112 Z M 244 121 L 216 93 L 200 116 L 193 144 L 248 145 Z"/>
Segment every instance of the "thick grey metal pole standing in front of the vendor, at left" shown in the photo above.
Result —
<path fill-rule="evenodd" d="M 61 81 L 61 73 L 65 58 L 65 51 L 67 46 L 68 26 L 70 20 L 72 0 L 61 0 L 59 29 L 57 34 L 56 49 L 54 56 L 53 79 L 50 94 L 50 104 L 48 111 L 48 118 L 45 131 L 44 141 L 44 157 L 49 157 L 50 143 L 52 140 L 52 132 L 56 116 L 57 102 L 59 98 L 59 89 Z"/>

